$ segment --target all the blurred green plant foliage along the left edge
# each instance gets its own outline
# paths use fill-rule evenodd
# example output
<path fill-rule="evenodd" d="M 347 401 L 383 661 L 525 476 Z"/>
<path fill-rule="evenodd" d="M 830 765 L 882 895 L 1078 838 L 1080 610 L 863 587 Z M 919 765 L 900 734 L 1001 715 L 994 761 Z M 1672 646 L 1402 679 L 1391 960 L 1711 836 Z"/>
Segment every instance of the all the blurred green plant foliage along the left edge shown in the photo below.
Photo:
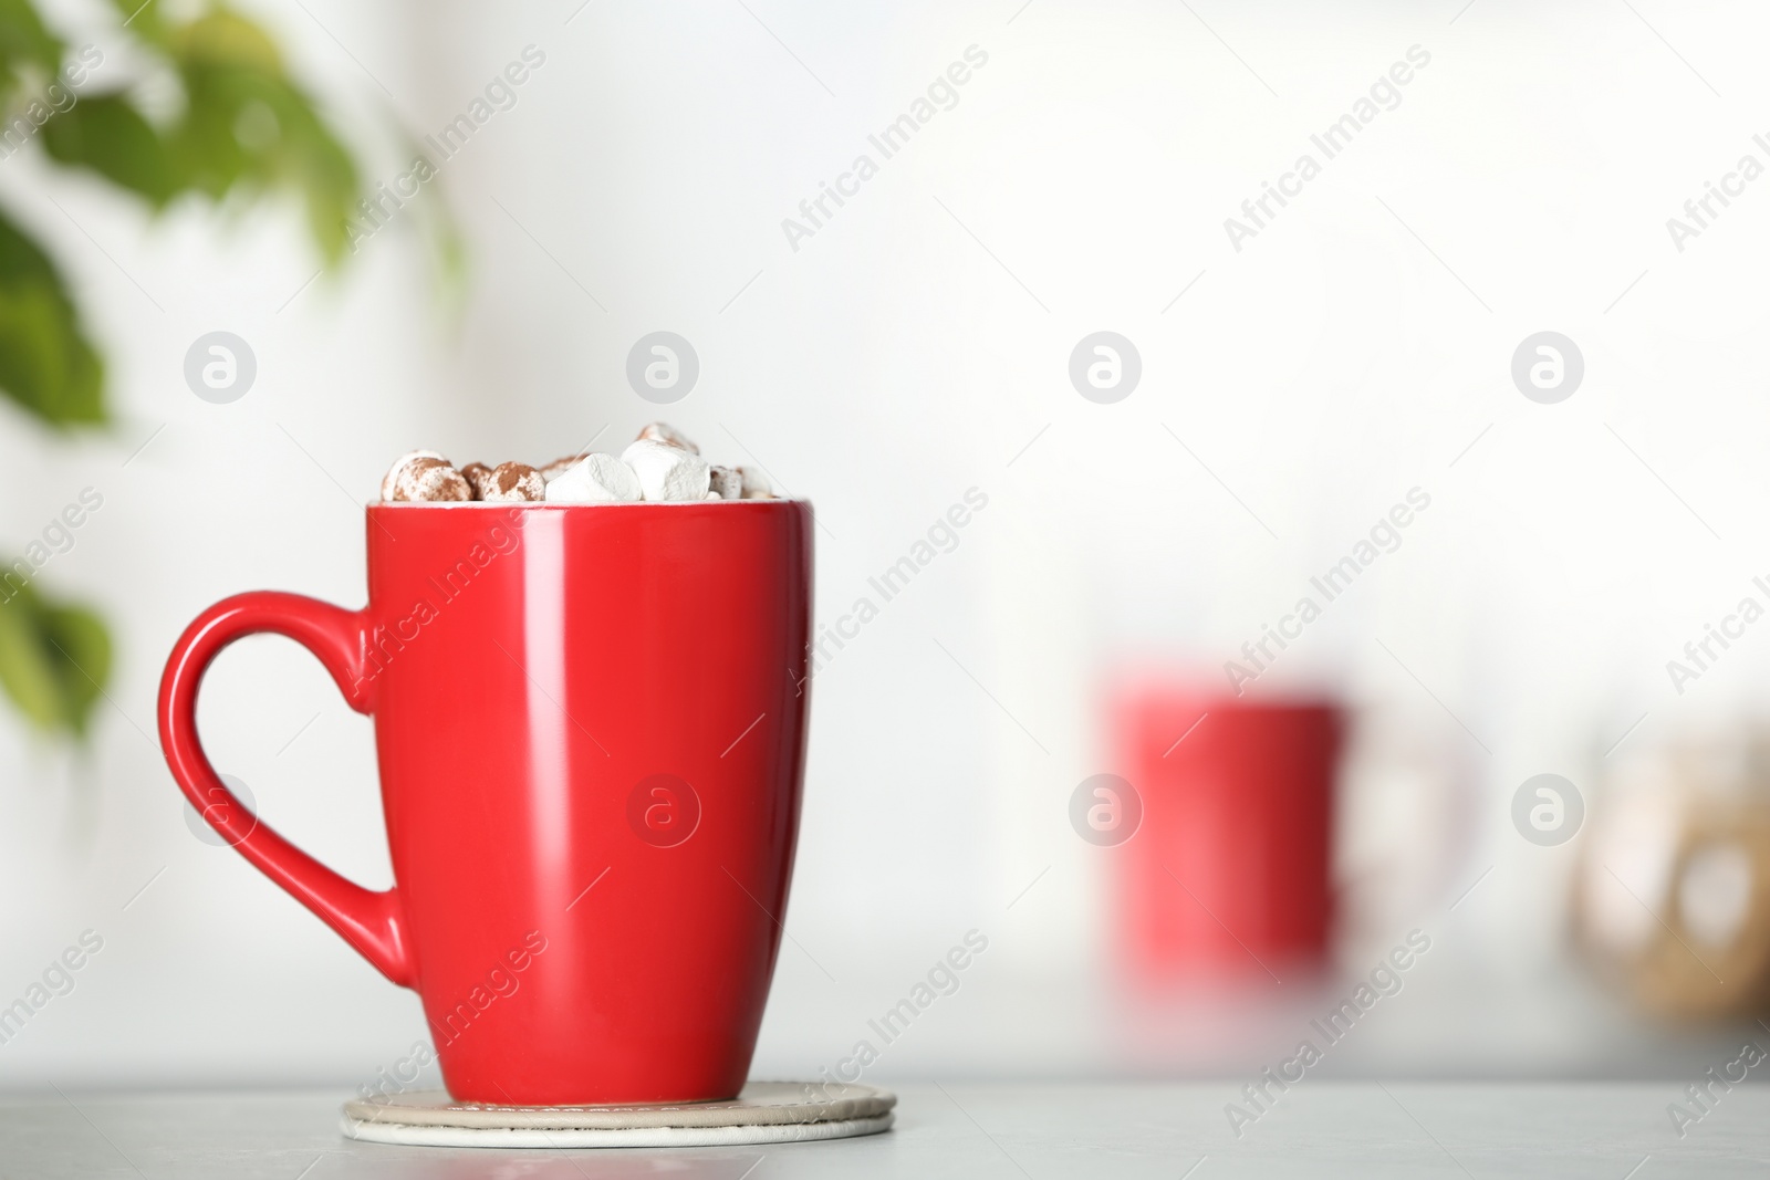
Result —
<path fill-rule="evenodd" d="M 306 92 L 289 76 L 274 39 L 225 4 L 195 18 L 165 16 L 152 0 L 113 0 L 133 48 L 163 64 L 182 88 L 168 120 L 143 117 L 129 94 L 83 94 L 42 126 L 50 159 L 83 168 L 161 209 L 184 193 L 211 200 L 294 193 L 327 264 L 349 248 L 359 196 L 356 163 Z M 0 111 L 48 85 L 65 46 L 35 0 L 0 0 Z M 446 235 L 442 235 L 446 239 Z M 39 421 L 101 423 L 104 368 L 51 258 L 0 212 L 0 395 Z M 53 601 L 32 568 L 0 568 L 0 690 L 39 729 L 87 734 L 112 670 L 97 614 Z"/>

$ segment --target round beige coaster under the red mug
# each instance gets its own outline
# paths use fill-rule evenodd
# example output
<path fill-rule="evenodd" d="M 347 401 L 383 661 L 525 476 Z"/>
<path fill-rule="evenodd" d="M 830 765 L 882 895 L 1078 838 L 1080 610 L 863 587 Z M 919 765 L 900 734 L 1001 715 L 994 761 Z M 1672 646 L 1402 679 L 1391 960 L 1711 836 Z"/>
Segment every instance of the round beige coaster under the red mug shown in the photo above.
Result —
<path fill-rule="evenodd" d="M 729 1102 L 485 1106 L 418 1090 L 343 1104 L 343 1132 L 419 1146 L 742 1146 L 885 1130 L 897 1095 L 843 1083 L 752 1081 Z"/>

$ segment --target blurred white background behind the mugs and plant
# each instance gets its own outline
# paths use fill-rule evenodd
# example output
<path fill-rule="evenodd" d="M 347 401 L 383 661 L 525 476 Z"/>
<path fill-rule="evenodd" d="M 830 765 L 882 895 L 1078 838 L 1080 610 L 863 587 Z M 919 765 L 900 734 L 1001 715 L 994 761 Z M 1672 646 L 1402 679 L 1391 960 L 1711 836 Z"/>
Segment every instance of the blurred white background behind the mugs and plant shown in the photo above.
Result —
<path fill-rule="evenodd" d="M 988 954 L 869 1079 L 1289 1053 L 1320 994 L 1152 1015 L 1117 991 L 1110 853 L 1076 839 L 1067 798 L 1112 770 L 1117 670 L 1220 678 L 1414 487 L 1432 506 L 1404 545 L 1260 683 L 1368 706 L 1343 966 L 1368 971 L 1409 927 L 1435 939 L 1331 1069 L 1706 1065 L 1708 1033 L 1637 1024 L 1568 962 L 1579 840 L 1535 847 L 1508 807 L 1542 771 L 1591 801 L 1611 762 L 1729 724 L 1770 679 L 1770 633 L 1682 695 L 1666 672 L 1770 573 L 1770 180 L 1683 251 L 1666 228 L 1740 156 L 1770 159 L 1752 143 L 1770 19 L 1462 5 L 251 5 L 389 180 L 400 127 L 441 131 L 526 46 L 545 53 L 441 168 L 458 299 L 414 218 L 310 283 L 292 211 L 147 219 L 28 154 L 0 161 L 0 202 L 92 310 L 122 419 L 55 444 L 12 412 L 0 428 L 9 550 L 81 488 L 104 495 L 42 579 L 120 639 L 88 766 L 0 716 L 0 1003 L 80 931 L 104 938 L 0 1046 L 0 1084 L 354 1083 L 423 1037 L 416 996 L 195 839 L 158 752 L 159 667 L 235 591 L 358 605 L 361 502 L 405 449 L 538 462 L 630 437 L 657 412 L 625 357 L 658 329 L 701 357 L 666 416 L 816 502 L 825 619 L 968 488 L 989 497 L 816 679 L 758 1076 L 832 1065 L 974 927 Z M 115 39 L 96 4 L 64 16 L 74 42 Z M 795 249 L 782 218 L 878 159 L 867 136 L 968 46 L 988 64 L 959 101 Z M 1398 106 L 1234 249 L 1225 218 L 1411 46 L 1430 64 Z M 182 379 L 216 329 L 258 359 L 232 405 Z M 1115 405 L 1067 377 L 1103 329 L 1143 366 Z M 1538 331 L 1584 354 L 1558 405 L 1510 377 Z M 202 724 L 271 824 L 388 883 L 370 725 L 312 658 L 241 644 Z"/>

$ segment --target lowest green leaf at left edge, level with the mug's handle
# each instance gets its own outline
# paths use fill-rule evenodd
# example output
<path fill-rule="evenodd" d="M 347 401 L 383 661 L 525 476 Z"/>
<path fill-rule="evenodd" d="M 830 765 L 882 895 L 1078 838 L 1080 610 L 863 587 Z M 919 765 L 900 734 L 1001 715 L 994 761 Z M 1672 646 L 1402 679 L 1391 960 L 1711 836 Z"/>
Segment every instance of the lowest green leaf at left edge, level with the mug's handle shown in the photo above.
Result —
<path fill-rule="evenodd" d="M 46 600 L 21 573 L 0 580 L 0 688 L 37 729 L 85 738 L 112 670 L 104 623 Z"/>

